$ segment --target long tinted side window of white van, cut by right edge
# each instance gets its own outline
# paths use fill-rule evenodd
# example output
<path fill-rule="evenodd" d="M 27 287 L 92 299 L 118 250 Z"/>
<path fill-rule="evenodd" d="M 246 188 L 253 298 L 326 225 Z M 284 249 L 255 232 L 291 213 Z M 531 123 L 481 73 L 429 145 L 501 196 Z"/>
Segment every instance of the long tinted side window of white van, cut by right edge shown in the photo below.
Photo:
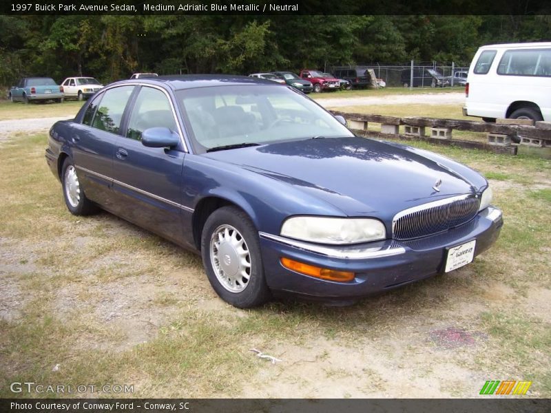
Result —
<path fill-rule="evenodd" d="M 551 49 L 508 50 L 503 53 L 497 74 L 551 76 Z"/>

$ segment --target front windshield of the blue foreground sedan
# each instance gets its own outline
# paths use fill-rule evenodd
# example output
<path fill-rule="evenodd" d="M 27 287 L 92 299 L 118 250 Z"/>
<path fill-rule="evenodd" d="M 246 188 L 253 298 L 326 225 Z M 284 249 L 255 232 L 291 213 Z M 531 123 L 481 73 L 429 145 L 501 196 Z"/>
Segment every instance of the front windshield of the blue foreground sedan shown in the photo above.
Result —
<path fill-rule="evenodd" d="M 176 98 L 198 153 L 227 145 L 353 136 L 329 112 L 287 87 L 198 87 L 179 90 Z"/>

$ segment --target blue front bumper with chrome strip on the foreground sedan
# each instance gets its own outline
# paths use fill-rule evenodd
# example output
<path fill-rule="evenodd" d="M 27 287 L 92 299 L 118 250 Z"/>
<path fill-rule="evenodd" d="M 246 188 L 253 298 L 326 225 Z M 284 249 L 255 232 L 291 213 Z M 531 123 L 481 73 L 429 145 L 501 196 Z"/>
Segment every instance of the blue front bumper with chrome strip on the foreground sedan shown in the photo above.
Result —
<path fill-rule="evenodd" d="M 260 233 L 268 286 L 312 299 L 357 299 L 444 272 L 446 248 L 476 240 L 475 257 L 499 236 L 501 211 L 488 207 L 467 224 L 409 241 L 384 240 L 349 247 L 320 246 Z M 332 282 L 284 268 L 282 257 L 313 266 L 352 271 L 351 282 Z"/>

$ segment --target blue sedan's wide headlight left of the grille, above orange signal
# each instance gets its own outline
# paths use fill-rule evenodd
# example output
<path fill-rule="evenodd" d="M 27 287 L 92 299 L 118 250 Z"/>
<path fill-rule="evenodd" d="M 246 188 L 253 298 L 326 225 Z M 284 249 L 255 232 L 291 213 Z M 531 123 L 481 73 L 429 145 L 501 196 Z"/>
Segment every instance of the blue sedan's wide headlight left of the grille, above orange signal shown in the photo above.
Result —
<path fill-rule="evenodd" d="M 320 244 L 357 244 L 386 238 L 384 224 L 371 218 L 293 217 L 281 235 Z"/>

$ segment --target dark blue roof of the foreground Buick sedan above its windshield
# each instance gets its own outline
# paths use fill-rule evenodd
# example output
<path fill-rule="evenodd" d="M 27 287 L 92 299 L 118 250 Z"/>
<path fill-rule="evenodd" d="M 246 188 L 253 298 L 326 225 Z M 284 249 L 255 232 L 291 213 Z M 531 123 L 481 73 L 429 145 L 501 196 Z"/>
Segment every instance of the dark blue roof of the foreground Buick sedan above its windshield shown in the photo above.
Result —
<path fill-rule="evenodd" d="M 273 81 L 251 76 L 237 76 L 225 74 L 184 74 L 172 76 L 158 76 L 155 78 L 137 78 L 116 82 L 124 85 L 127 83 L 141 83 L 143 85 L 165 85 L 173 90 L 194 89 L 196 87 L 211 86 L 238 86 L 238 85 L 273 85 Z M 114 83 L 113 83 L 114 84 Z"/>

